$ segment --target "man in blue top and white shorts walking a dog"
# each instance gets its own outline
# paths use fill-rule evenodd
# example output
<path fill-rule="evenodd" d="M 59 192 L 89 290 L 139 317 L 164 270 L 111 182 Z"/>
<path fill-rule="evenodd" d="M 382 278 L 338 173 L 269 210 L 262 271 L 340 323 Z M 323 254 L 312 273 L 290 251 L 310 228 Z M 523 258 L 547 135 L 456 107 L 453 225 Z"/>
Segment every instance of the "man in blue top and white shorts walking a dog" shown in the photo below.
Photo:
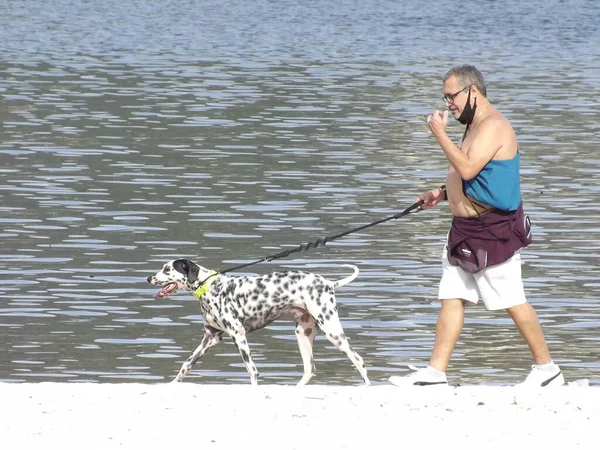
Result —
<path fill-rule="evenodd" d="M 537 314 L 523 291 L 520 249 L 531 242 L 531 229 L 521 203 L 517 137 L 488 101 L 483 76 L 475 67 L 454 67 L 443 81 L 444 102 L 466 128 L 458 147 L 446 134 L 448 110 L 427 117 L 450 168 L 444 186 L 417 199 L 423 200 L 424 209 L 447 199 L 454 216 L 442 257 L 442 306 L 427 368 L 389 381 L 398 386 L 447 384 L 465 306 L 481 297 L 488 310 L 508 312 L 531 350 L 534 365 L 521 384 L 560 386 L 563 375 L 550 358 Z"/>

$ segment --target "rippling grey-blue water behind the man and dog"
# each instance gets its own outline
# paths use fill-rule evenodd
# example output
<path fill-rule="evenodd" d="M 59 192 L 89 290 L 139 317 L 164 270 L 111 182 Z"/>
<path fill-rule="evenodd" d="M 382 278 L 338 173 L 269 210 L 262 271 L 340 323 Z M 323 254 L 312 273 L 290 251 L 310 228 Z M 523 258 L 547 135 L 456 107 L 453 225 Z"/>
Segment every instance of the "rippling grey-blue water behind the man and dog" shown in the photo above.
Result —
<path fill-rule="evenodd" d="M 519 135 L 528 298 L 567 379 L 598 379 L 598 3 L 302 3 L 3 2 L 1 381 L 171 379 L 200 310 L 154 299 L 145 278 L 172 258 L 222 270 L 402 211 L 442 183 L 424 114 L 465 62 Z M 422 212 L 239 273 L 335 279 L 357 264 L 340 315 L 383 381 L 428 359 L 449 220 Z M 290 320 L 250 344 L 261 382 L 299 380 Z M 360 381 L 321 335 L 315 357 L 315 383 Z M 468 310 L 453 381 L 512 383 L 529 364 L 505 313 Z M 248 382 L 228 339 L 190 377 Z"/>

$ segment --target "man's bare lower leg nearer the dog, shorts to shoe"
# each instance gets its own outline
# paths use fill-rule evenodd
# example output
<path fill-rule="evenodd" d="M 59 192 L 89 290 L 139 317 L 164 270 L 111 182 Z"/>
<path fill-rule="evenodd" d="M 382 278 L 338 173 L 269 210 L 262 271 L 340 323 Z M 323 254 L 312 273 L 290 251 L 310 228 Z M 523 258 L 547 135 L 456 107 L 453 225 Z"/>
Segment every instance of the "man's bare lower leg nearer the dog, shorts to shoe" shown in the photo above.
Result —
<path fill-rule="evenodd" d="M 445 373 L 464 324 L 465 301 L 443 299 L 441 302 L 442 308 L 435 328 L 435 344 L 429 365 Z"/>

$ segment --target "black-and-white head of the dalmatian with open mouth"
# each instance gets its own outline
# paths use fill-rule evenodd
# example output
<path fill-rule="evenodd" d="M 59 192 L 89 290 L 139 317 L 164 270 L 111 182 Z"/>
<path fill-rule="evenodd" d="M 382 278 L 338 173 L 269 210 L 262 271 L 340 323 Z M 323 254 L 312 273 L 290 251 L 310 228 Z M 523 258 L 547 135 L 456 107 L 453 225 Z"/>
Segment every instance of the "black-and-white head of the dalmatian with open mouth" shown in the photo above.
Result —
<path fill-rule="evenodd" d="M 160 286 L 162 289 L 156 294 L 157 297 L 168 297 L 177 292 L 178 289 L 193 291 L 201 272 L 209 272 L 198 264 L 187 259 L 175 259 L 166 263 L 155 275 L 147 278 L 152 286 Z"/>

